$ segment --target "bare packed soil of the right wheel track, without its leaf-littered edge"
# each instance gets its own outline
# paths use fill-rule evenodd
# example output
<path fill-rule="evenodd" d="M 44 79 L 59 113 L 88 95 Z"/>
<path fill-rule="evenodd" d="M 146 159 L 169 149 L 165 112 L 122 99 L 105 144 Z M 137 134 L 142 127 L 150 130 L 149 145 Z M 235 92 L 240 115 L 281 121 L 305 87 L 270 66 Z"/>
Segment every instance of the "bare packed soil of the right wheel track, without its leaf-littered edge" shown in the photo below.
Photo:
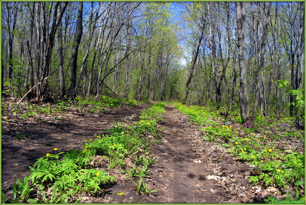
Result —
<path fill-rule="evenodd" d="M 207 180 L 209 175 L 201 163 L 194 163 L 194 152 L 187 146 L 186 138 L 192 133 L 184 127 L 190 125 L 187 118 L 174 109 L 166 106 L 162 126 L 165 142 L 156 145 L 152 155 L 156 156 L 152 180 L 159 188 L 154 203 L 220 203 L 218 186 L 214 180 Z M 156 179 L 156 180 L 155 180 Z"/>

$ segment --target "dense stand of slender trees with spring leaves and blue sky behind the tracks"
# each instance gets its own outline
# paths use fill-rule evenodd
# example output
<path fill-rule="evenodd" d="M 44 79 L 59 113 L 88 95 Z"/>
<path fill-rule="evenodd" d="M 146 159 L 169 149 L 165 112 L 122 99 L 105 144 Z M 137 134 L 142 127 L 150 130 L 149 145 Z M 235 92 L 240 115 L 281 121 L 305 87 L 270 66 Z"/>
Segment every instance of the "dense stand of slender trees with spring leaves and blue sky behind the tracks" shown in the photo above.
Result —
<path fill-rule="evenodd" d="M 2 94 L 304 118 L 304 2 L 1 4 Z"/>

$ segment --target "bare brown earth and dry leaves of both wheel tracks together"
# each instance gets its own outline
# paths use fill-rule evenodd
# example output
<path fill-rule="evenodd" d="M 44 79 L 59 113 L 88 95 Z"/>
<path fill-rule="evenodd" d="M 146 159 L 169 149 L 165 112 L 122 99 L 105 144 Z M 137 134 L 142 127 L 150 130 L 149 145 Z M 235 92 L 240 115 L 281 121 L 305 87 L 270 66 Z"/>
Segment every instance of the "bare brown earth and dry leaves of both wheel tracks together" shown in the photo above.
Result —
<path fill-rule="evenodd" d="M 37 158 L 55 153 L 50 150 L 80 150 L 85 139 L 115 122 L 139 120 L 137 115 L 147 106 L 111 108 L 85 117 L 84 112 L 75 110 L 69 117 L 66 114 L 65 120 L 47 114 L 14 119 L 2 113 L 2 122 L 10 119 L 2 123 L 2 192 L 11 195 L 12 184 L 29 175 L 26 169 Z M 233 122 L 231 125 L 241 127 Z M 288 191 L 252 186 L 247 178 L 252 172 L 250 165 L 237 161 L 221 142 L 203 139 L 200 126 L 192 124 L 173 105 L 166 106 L 158 128 L 163 142 L 151 148 L 150 156 L 157 162 L 149 167 L 151 172 L 145 180 L 157 192 L 138 194 L 132 180 L 125 180 L 119 172 L 113 186 L 99 194 L 83 193 L 79 203 L 265 203 L 267 196 Z M 26 138 L 15 140 L 16 133 L 26 134 Z M 124 195 L 117 194 L 121 192 Z"/>

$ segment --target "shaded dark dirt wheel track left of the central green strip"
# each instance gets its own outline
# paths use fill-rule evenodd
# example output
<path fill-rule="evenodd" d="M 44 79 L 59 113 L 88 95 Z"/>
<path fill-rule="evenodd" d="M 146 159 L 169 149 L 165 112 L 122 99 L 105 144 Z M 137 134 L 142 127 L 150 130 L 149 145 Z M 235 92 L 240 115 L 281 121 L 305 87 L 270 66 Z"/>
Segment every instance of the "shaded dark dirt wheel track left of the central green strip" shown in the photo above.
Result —
<path fill-rule="evenodd" d="M 43 122 L 38 120 L 36 123 L 17 123 L 17 127 L 6 125 L 6 130 L 9 131 L 2 129 L 1 139 L 2 191 L 11 190 L 13 182 L 27 176 L 29 172 L 26 169 L 37 158 L 43 157 L 46 153 L 55 153 L 53 148 L 58 148 L 57 153 L 82 149 L 85 139 L 108 129 L 113 122 L 130 121 L 132 115 L 136 116 L 147 106 L 149 105 L 113 108 L 105 113 L 89 114 L 86 117 L 73 114 L 73 118 L 67 119 L 67 122 L 48 118 Z M 15 141 L 13 136 L 16 133 L 26 134 L 26 138 Z"/>

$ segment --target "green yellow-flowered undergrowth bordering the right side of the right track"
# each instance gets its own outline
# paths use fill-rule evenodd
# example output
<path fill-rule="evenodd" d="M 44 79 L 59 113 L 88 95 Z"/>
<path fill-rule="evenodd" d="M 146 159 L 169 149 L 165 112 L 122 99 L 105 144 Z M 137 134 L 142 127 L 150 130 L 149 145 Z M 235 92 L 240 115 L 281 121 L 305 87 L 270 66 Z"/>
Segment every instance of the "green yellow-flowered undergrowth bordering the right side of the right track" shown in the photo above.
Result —
<path fill-rule="evenodd" d="M 304 154 L 283 149 L 284 143 L 288 143 L 292 138 L 303 141 L 300 132 L 289 129 L 289 118 L 283 119 L 282 122 L 260 117 L 256 120 L 254 128 L 241 125 L 238 130 L 226 122 L 223 125 L 215 122 L 214 119 L 221 119 L 220 115 L 210 108 L 186 107 L 181 103 L 174 103 L 174 106 L 189 115 L 191 122 L 206 126 L 200 129 L 205 133 L 203 138 L 208 141 L 218 139 L 223 146 L 228 147 L 227 151 L 237 160 L 249 162 L 253 166 L 253 176 L 249 176 L 252 185 L 278 188 L 293 186 L 296 189 L 299 186 L 303 187 Z"/>

